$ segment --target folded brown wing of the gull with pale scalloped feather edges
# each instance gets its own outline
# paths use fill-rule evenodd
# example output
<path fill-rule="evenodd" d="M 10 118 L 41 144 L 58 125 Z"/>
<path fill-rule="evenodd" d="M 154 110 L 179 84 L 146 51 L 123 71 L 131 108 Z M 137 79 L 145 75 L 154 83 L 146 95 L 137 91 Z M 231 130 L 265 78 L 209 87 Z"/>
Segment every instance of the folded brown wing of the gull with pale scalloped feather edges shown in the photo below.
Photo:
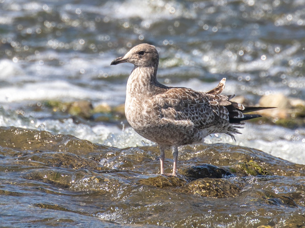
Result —
<path fill-rule="evenodd" d="M 161 118 L 189 120 L 198 129 L 230 123 L 230 119 L 242 119 L 245 107 L 229 101 L 234 95 L 220 95 L 225 78 L 209 92 L 196 92 L 192 89 L 174 87 L 157 95 Z M 238 121 L 234 122 L 238 124 Z"/>

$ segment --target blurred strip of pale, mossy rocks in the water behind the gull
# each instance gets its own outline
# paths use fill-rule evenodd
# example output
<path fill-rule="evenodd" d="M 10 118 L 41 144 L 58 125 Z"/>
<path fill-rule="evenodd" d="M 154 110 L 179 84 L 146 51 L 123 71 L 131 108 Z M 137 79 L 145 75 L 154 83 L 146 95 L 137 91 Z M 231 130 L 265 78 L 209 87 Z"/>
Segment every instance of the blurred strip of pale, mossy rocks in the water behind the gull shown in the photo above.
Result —
<path fill-rule="evenodd" d="M 250 120 L 254 123 L 268 123 L 287 128 L 305 126 L 305 101 L 298 98 L 288 98 L 278 93 L 262 96 L 258 104 L 252 104 L 245 97 L 237 96 L 232 101 L 245 105 L 255 105 L 264 107 L 276 107 L 253 113 L 261 114 L 263 117 Z M 45 101 L 46 107 L 52 108 L 53 112 L 63 112 L 70 116 L 81 117 L 93 121 L 126 122 L 124 114 L 124 104 L 110 106 L 101 103 L 93 107 L 91 102 L 80 100 L 76 102 Z M 126 122 L 127 123 L 127 122 Z"/>

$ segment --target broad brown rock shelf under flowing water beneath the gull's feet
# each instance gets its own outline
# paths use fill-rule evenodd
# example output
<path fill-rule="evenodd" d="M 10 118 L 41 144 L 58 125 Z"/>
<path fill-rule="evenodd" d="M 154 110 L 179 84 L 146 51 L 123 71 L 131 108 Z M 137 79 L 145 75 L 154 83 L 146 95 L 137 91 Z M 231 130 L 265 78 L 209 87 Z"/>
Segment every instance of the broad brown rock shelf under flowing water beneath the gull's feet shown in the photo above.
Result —
<path fill-rule="evenodd" d="M 3 213 L 13 205 L 31 213 L 30 219 L 55 211 L 159 227 L 305 223 L 304 165 L 253 148 L 183 146 L 178 167 L 188 177 L 152 174 L 160 168 L 157 146 L 118 149 L 70 135 L 0 127 L 0 151 L 0 192 L 3 202 L 14 199 L 2 204 Z M 169 172 L 171 151 L 166 154 Z M 189 182 L 192 178 L 199 179 Z"/>

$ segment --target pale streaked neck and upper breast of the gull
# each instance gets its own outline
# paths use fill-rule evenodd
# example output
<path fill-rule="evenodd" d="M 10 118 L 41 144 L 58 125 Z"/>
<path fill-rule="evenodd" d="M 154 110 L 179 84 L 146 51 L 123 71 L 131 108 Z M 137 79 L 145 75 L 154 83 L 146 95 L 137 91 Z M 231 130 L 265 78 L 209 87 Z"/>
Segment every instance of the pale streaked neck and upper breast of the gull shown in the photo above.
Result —
<path fill-rule="evenodd" d="M 156 92 L 157 87 L 165 86 L 157 81 L 157 67 L 135 66 L 127 81 L 127 95 L 130 96 L 151 96 Z"/>

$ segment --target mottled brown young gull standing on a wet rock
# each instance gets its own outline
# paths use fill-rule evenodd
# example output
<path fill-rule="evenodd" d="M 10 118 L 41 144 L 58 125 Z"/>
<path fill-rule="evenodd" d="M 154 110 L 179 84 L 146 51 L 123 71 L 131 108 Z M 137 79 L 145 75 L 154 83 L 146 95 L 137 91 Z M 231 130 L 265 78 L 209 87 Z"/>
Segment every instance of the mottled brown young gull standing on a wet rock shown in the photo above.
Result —
<path fill-rule="evenodd" d="M 202 143 L 213 133 L 226 133 L 235 140 L 244 120 L 260 115 L 245 112 L 267 109 L 246 107 L 230 101 L 235 95 L 221 95 L 225 78 L 209 92 L 184 87 L 168 87 L 157 81 L 159 54 L 156 47 L 139 44 L 110 65 L 132 63 L 134 68 L 127 81 L 125 115 L 133 129 L 160 147 L 161 174 L 164 174 L 164 149 L 172 147 L 177 173 L 178 146 Z M 236 126 L 237 125 L 237 126 Z"/>

